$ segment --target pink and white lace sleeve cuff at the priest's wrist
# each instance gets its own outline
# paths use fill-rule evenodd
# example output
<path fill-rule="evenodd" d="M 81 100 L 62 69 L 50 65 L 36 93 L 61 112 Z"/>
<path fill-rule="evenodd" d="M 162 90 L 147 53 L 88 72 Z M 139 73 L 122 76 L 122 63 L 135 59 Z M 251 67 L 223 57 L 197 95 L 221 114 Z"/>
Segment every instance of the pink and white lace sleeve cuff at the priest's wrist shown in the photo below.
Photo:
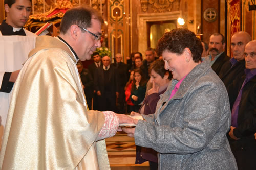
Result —
<path fill-rule="evenodd" d="M 97 140 L 112 137 L 116 134 L 119 125 L 119 119 L 112 111 L 104 111 L 105 123 L 98 135 Z"/>

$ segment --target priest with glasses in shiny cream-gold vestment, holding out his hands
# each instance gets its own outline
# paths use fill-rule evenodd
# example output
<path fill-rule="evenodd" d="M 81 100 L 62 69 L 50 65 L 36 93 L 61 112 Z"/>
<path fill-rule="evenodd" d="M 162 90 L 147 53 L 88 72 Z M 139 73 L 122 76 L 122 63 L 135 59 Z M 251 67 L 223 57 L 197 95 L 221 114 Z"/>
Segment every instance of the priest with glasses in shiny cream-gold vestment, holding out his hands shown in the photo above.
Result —
<path fill-rule="evenodd" d="M 132 118 L 88 110 L 77 61 L 100 47 L 102 18 L 70 9 L 58 37 L 40 36 L 15 83 L 1 169 L 110 169 L 106 137 Z"/>

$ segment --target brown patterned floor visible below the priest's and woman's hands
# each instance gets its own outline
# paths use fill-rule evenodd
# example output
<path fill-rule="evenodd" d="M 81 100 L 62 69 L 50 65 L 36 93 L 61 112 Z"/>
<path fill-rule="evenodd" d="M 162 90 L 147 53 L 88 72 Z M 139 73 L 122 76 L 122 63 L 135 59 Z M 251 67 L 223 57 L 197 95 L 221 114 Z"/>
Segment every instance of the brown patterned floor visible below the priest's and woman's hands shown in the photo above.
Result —
<path fill-rule="evenodd" d="M 117 132 L 106 139 L 106 149 L 109 155 L 111 170 L 147 170 L 148 162 L 135 164 L 136 146 L 134 138 L 125 133 Z"/>

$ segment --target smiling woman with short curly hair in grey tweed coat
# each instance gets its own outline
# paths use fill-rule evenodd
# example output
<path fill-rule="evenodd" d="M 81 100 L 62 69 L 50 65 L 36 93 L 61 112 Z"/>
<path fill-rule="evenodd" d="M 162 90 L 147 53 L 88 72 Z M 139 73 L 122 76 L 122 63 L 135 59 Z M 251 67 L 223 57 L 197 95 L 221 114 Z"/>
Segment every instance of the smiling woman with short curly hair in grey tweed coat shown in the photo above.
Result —
<path fill-rule="evenodd" d="M 123 131 L 136 145 L 159 153 L 159 169 L 237 169 L 226 137 L 228 95 L 209 61 L 201 62 L 201 41 L 188 29 L 174 29 L 159 40 L 157 51 L 173 81 L 155 114 Z"/>

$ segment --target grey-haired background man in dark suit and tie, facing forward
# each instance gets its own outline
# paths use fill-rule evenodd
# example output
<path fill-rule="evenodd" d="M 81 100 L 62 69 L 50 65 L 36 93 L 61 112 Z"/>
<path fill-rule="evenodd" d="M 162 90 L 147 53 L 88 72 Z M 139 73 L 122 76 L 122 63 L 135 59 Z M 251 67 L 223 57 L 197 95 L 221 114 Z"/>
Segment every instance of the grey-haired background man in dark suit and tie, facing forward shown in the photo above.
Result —
<path fill-rule="evenodd" d="M 104 56 L 102 63 L 103 68 L 97 68 L 94 75 L 96 94 L 99 96 L 99 110 L 116 111 L 116 98 L 119 94 L 116 69 L 110 66 L 109 56 Z"/>

